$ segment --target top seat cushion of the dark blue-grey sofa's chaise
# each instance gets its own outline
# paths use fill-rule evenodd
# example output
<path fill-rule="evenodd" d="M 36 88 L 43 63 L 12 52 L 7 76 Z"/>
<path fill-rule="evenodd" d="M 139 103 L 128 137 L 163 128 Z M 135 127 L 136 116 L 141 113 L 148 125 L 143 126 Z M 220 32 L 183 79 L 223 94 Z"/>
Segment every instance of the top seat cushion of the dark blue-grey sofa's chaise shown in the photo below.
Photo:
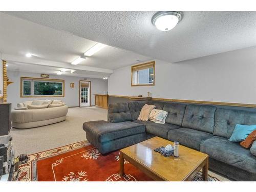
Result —
<path fill-rule="evenodd" d="M 122 137 L 145 133 L 145 125 L 131 121 L 119 123 L 89 121 L 83 123 L 83 130 L 90 132 L 90 135 L 94 137 L 93 139 L 99 143 L 104 143 Z"/>

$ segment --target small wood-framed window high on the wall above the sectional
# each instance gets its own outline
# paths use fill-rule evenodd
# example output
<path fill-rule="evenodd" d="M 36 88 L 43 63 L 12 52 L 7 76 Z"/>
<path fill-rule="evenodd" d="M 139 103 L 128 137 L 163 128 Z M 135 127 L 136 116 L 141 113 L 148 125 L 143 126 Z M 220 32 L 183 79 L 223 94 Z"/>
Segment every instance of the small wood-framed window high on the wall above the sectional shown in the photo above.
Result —
<path fill-rule="evenodd" d="M 132 66 L 132 86 L 155 86 L 155 61 Z"/>

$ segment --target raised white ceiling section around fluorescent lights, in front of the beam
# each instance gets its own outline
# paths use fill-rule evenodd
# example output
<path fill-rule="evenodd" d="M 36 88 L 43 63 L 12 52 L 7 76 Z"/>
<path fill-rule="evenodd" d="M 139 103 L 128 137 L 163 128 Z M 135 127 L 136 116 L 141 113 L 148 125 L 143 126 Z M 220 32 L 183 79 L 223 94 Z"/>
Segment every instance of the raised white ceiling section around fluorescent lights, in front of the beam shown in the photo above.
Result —
<path fill-rule="evenodd" d="M 4 13 L 0 13 L 0 24 L 4 26 L 0 28 L 0 52 L 4 54 L 24 56 L 29 52 L 34 58 L 70 63 L 96 44 L 95 41 Z M 117 69 L 137 63 L 136 60 L 149 59 L 131 51 L 106 46 L 79 65 Z"/>

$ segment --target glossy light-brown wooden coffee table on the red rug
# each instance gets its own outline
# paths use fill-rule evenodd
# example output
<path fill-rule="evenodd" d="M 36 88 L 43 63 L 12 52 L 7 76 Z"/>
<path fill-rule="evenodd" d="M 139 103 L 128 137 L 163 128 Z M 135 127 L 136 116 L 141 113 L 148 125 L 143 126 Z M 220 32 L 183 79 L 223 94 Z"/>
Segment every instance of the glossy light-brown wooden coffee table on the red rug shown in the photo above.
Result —
<path fill-rule="evenodd" d="M 120 151 L 120 175 L 124 175 L 124 159 L 156 181 L 191 181 L 203 168 L 208 181 L 208 155 L 179 145 L 179 157 L 164 157 L 154 149 L 172 141 L 153 137 Z"/>

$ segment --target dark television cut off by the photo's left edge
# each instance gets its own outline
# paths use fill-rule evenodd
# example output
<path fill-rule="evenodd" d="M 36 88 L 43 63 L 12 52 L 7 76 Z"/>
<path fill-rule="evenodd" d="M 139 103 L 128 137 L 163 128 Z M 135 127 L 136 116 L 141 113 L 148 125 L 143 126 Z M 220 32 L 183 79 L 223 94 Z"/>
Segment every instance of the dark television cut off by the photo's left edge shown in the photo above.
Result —
<path fill-rule="evenodd" d="M 8 135 L 11 130 L 12 103 L 0 103 L 0 136 Z"/>

